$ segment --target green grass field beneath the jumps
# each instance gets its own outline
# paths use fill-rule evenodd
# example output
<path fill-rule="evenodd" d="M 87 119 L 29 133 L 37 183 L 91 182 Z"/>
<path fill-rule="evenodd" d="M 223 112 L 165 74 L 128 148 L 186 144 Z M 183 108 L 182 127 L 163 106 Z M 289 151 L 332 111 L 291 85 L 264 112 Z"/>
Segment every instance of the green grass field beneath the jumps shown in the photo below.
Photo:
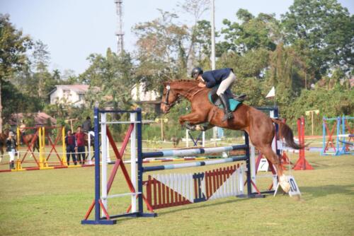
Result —
<path fill-rule="evenodd" d="M 307 160 L 315 170 L 292 172 L 299 201 L 282 194 L 230 197 L 161 209 L 157 218 L 122 218 L 113 226 L 81 225 L 93 199 L 93 167 L 0 173 L 0 235 L 354 235 L 354 156 L 307 153 Z M 205 167 L 178 172 L 200 170 Z M 126 191 L 124 181 L 115 182 L 113 193 Z M 113 200 L 110 213 L 121 213 L 129 201 Z"/>

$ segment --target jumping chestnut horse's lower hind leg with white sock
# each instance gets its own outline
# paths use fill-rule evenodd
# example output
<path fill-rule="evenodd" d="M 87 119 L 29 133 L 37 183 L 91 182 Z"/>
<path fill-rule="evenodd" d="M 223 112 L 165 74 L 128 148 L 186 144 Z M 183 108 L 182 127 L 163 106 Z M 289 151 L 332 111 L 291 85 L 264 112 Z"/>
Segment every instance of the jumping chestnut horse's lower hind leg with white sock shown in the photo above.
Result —
<path fill-rule="evenodd" d="M 282 187 L 282 190 L 284 190 L 287 193 L 290 190 L 290 184 L 289 182 L 287 182 L 287 178 L 285 177 L 284 172 L 282 170 L 280 158 L 276 153 L 274 153 L 271 146 L 265 146 L 258 149 L 259 151 L 261 151 L 263 155 L 265 155 L 265 158 L 267 158 L 270 161 L 270 163 L 272 163 L 275 166 L 277 170 L 277 175 L 279 177 L 280 187 Z"/>

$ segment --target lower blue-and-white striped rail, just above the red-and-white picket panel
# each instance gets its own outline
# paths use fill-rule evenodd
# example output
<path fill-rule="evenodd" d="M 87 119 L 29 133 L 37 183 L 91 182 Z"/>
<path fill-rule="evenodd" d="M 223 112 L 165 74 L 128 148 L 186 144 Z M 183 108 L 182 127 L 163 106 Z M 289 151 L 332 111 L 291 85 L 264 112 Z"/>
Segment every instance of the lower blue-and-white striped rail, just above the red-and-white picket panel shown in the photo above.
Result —
<path fill-rule="evenodd" d="M 222 163 L 233 163 L 233 162 L 236 162 L 236 161 L 247 160 L 247 159 L 248 158 L 246 157 L 246 155 L 241 155 L 241 156 L 237 156 L 237 157 L 235 156 L 235 157 L 232 157 L 232 158 L 200 161 L 200 162 L 197 162 L 197 163 L 155 165 L 155 166 L 142 167 L 142 172 L 149 172 L 149 171 L 155 171 L 155 170 L 173 170 L 173 169 L 179 169 L 179 168 L 197 167 L 197 166 L 202 166 L 202 165 L 216 165 L 216 164 L 222 164 Z"/>

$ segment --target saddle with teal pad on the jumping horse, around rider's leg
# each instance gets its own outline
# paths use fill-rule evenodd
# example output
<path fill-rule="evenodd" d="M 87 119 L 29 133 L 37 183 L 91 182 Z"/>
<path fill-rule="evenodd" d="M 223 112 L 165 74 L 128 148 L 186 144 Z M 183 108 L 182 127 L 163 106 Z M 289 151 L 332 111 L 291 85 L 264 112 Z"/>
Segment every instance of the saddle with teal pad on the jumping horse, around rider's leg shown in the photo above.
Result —
<path fill-rule="evenodd" d="M 212 88 L 212 90 L 208 93 L 208 98 L 209 101 L 223 109 L 222 106 L 222 101 L 220 100 L 219 96 L 217 95 L 217 88 L 219 88 L 219 86 L 215 86 L 214 88 Z M 232 91 L 228 88 L 227 90 L 225 90 L 224 94 L 227 96 L 227 99 L 229 100 L 229 104 L 230 104 L 230 110 L 232 112 L 234 112 L 234 110 L 236 110 L 237 107 L 239 107 L 239 105 L 244 102 L 244 100 L 246 99 L 246 95 L 240 95 L 240 96 L 236 96 L 234 94 L 232 94 Z"/>

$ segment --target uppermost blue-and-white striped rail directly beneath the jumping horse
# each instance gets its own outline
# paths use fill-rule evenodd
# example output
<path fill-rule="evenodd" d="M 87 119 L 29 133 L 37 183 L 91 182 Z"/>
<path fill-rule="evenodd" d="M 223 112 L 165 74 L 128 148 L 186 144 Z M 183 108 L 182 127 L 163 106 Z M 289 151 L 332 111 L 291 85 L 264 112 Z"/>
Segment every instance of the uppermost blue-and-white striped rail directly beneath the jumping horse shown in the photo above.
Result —
<path fill-rule="evenodd" d="M 167 150 L 161 152 L 152 152 L 152 153 L 142 153 L 142 158 L 161 158 L 161 157 L 173 157 L 181 155 L 198 155 L 206 153 L 222 153 L 226 151 L 246 149 L 246 145 L 234 145 L 226 147 L 217 147 L 217 148 L 191 148 L 191 149 L 181 149 L 181 150 Z"/>

